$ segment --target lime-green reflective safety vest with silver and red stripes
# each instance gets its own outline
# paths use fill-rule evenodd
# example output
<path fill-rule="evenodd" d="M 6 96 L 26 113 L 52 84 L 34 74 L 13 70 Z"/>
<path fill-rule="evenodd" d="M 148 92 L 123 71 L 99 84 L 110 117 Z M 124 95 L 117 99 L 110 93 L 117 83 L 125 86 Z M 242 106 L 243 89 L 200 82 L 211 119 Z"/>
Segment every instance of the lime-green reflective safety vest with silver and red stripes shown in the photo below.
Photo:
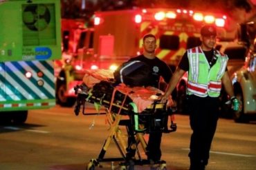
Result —
<path fill-rule="evenodd" d="M 196 96 L 218 97 L 221 92 L 221 78 L 226 71 L 228 57 L 222 56 L 218 51 L 216 63 L 210 65 L 203 54 L 201 47 L 188 50 L 190 70 L 188 74 L 187 93 Z"/>

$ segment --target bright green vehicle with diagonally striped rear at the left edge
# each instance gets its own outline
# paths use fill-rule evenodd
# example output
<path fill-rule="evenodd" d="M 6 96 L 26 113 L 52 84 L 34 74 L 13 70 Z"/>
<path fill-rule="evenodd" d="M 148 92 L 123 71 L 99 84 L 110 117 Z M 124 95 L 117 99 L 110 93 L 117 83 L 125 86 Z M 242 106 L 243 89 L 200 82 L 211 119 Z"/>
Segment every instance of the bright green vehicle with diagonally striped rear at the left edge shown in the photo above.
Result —
<path fill-rule="evenodd" d="M 55 106 L 60 1 L 2 1 L 0 23 L 0 121 L 24 123 L 28 110 Z"/>

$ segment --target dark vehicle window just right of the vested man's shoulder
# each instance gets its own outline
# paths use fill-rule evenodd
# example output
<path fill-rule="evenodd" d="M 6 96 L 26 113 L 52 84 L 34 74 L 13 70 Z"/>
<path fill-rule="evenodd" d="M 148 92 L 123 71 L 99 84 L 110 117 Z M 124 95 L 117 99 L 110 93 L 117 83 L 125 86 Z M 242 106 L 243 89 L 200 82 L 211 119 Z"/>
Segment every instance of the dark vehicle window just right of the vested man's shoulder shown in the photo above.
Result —
<path fill-rule="evenodd" d="M 246 47 L 227 47 L 224 54 L 228 55 L 228 59 L 245 59 Z"/>

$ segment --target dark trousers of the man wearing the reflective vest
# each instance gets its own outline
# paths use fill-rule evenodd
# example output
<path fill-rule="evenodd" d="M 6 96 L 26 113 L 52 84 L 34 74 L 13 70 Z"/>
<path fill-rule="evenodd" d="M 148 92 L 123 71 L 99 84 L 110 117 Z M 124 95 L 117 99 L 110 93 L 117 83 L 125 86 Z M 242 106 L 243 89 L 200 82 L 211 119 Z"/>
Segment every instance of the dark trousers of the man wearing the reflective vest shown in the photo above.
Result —
<path fill-rule="evenodd" d="M 210 146 L 219 118 L 219 98 L 189 96 L 190 127 L 190 169 L 204 169 L 208 164 Z"/>

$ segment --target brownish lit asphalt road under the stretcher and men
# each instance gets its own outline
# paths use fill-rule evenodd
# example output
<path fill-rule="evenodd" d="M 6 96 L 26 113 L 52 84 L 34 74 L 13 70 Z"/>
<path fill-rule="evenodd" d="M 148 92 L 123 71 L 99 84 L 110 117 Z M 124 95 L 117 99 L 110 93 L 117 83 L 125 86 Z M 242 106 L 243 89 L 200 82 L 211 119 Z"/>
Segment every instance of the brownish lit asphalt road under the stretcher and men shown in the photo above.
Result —
<path fill-rule="evenodd" d="M 95 112 L 90 108 L 87 107 L 86 111 Z M 24 125 L 0 125 L 0 169 L 86 169 L 89 160 L 98 158 L 109 134 L 109 125 L 105 120 L 104 115 L 75 116 L 73 108 L 60 106 L 30 111 Z M 189 119 L 188 116 L 177 114 L 175 122 L 177 131 L 163 134 L 162 158 L 167 162 L 167 169 L 185 170 L 189 167 Z M 125 129 L 120 128 L 126 139 Z M 143 151 L 141 154 L 145 156 Z M 116 157 L 120 157 L 120 153 L 111 142 L 106 158 Z M 96 169 L 111 169 L 111 162 L 103 165 L 104 168 Z M 113 166 L 118 169 L 118 162 L 113 162 Z M 135 169 L 149 169 L 149 166 L 136 166 Z M 256 123 L 238 124 L 221 118 L 207 170 L 255 169 Z"/>

